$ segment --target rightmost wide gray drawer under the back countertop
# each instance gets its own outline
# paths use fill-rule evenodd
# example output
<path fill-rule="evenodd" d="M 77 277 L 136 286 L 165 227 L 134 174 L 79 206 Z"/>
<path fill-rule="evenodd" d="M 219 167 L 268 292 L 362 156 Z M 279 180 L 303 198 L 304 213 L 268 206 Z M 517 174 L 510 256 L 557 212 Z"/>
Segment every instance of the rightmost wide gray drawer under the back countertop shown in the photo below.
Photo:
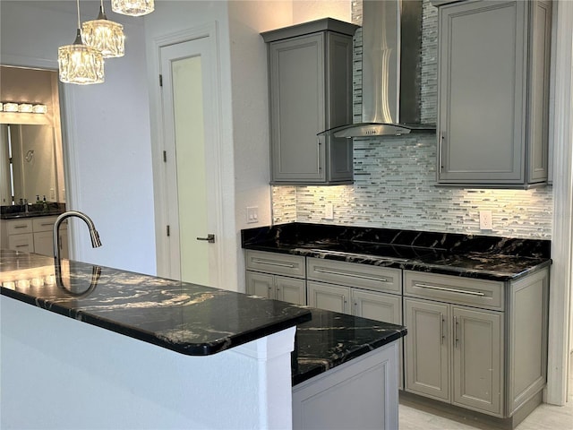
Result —
<path fill-rule="evenodd" d="M 404 271 L 404 288 L 406 296 L 503 310 L 503 282 Z"/>

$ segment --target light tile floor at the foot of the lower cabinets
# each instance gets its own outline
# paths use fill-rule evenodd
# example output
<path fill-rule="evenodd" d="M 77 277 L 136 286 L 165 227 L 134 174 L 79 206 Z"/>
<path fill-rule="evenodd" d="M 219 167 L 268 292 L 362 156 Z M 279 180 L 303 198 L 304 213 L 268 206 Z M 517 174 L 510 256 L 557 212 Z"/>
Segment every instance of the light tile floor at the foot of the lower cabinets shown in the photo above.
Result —
<path fill-rule="evenodd" d="M 463 423 L 461 419 L 449 419 L 443 414 L 433 415 L 425 408 L 399 407 L 400 430 L 492 430 L 495 427 Z M 566 406 L 543 403 L 535 409 L 516 430 L 573 430 L 573 360 L 569 372 L 569 401 Z"/>

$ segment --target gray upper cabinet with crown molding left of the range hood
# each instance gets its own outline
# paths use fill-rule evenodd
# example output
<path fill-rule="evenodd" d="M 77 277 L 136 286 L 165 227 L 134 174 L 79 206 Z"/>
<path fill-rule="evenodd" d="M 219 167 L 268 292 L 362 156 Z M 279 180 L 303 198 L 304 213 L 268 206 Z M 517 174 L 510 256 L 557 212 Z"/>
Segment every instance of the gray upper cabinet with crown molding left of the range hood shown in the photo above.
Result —
<path fill-rule="evenodd" d="M 352 140 L 317 136 L 352 123 L 352 38 L 330 18 L 262 33 L 269 52 L 271 184 L 353 182 Z"/>

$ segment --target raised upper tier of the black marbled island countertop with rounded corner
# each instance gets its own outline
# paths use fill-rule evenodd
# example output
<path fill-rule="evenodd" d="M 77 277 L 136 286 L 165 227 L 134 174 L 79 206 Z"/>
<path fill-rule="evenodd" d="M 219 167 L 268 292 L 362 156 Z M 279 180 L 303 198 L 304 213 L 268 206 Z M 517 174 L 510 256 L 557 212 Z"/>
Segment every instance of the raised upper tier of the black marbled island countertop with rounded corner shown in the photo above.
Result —
<path fill-rule="evenodd" d="M 308 309 L 177 280 L 0 251 L 2 295 L 186 355 L 210 355 L 304 323 Z"/>

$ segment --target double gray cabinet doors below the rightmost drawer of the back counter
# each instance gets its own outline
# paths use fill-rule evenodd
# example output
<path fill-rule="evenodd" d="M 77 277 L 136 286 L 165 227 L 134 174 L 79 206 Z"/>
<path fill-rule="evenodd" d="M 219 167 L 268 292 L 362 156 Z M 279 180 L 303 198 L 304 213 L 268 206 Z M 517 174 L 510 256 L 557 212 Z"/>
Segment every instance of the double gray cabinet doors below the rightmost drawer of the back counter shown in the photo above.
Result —
<path fill-rule="evenodd" d="M 405 308 L 406 391 L 500 417 L 502 313 L 414 298 Z"/>

